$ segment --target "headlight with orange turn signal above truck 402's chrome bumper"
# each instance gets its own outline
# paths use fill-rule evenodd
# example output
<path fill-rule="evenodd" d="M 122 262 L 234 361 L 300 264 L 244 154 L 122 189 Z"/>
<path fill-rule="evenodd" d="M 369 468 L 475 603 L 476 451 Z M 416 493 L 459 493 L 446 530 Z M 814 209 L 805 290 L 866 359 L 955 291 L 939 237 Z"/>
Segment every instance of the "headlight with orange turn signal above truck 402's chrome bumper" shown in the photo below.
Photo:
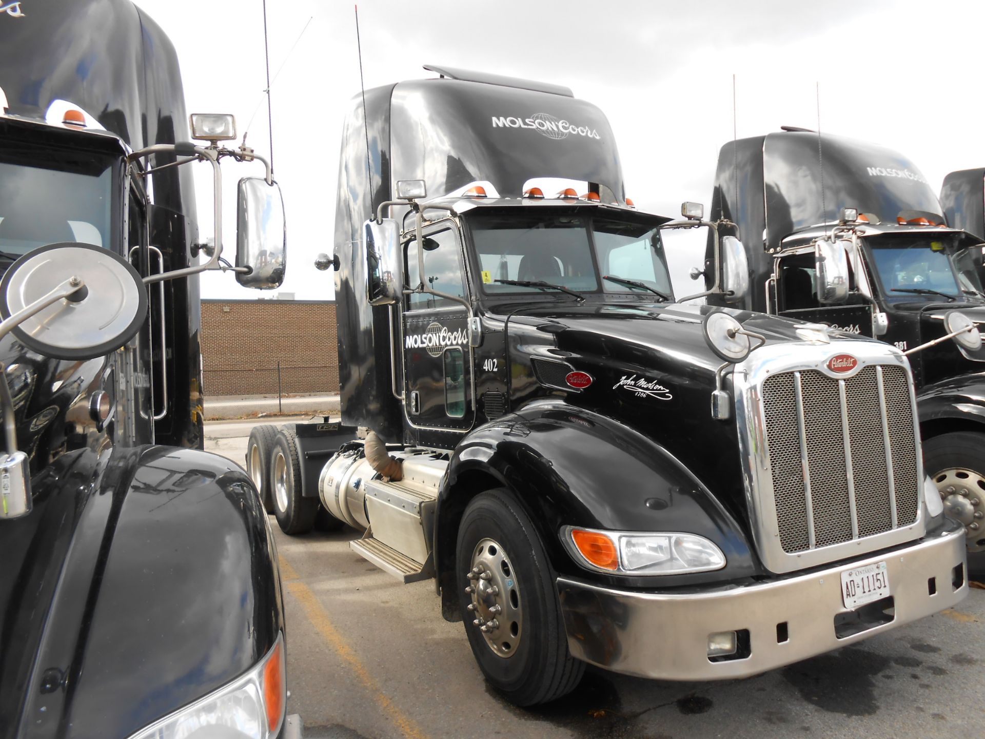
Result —
<path fill-rule="evenodd" d="M 599 531 L 564 526 L 561 541 L 588 570 L 615 574 L 681 574 L 725 567 L 725 555 L 697 534 Z"/>

